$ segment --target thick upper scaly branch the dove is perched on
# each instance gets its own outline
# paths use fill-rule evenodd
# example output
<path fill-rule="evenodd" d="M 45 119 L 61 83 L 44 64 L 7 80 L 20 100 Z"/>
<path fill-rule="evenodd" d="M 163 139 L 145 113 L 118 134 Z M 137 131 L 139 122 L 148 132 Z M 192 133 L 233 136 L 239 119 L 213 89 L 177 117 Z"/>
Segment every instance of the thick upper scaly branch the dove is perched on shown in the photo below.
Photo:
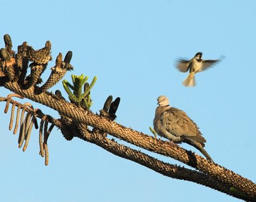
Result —
<path fill-rule="evenodd" d="M 177 159 L 178 161 L 184 162 L 197 170 L 207 173 L 207 175 L 220 180 L 230 187 L 235 187 L 238 191 L 245 192 L 250 196 L 256 196 L 256 185 L 252 181 L 241 177 L 241 175 L 227 170 L 218 164 L 209 162 L 203 157 L 179 147 L 179 145 L 175 143 L 156 140 L 151 136 L 121 126 L 116 122 L 106 119 L 105 117 L 95 115 L 89 110 L 83 110 L 83 108 L 79 108 L 76 105 L 72 105 L 62 99 L 58 99 L 49 92 L 35 95 L 33 93 L 35 90 L 34 87 L 31 87 L 28 90 L 22 90 L 15 82 L 5 82 L 4 87 L 20 94 L 20 96 L 27 97 L 37 103 L 49 106 L 50 108 L 57 110 L 61 115 L 70 117 L 76 122 L 83 122 L 88 126 L 100 129 L 104 133 L 109 133 L 116 138 L 120 138 L 138 147 Z"/>

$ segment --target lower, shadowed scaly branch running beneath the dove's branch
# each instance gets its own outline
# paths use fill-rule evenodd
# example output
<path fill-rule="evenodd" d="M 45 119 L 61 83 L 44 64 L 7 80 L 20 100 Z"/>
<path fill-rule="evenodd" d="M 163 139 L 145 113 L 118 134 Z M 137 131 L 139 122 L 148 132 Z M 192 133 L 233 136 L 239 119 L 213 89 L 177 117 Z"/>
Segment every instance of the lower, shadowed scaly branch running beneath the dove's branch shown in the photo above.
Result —
<path fill-rule="evenodd" d="M 210 177 L 199 171 L 189 170 L 188 168 L 182 168 L 180 166 L 176 166 L 173 164 L 168 164 L 163 161 L 159 161 L 158 159 L 151 157 L 150 155 L 144 154 L 138 150 L 134 150 L 125 145 L 120 145 L 115 142 L 115 140 L 109 140 L 106 136 L 102 136 L 97 132 L 88 132 L 86 131 L 84 124 L 79 124 L 79 131 L 82 131 L 82 134 L 78 134 L 77 137 L 82 140 L 89 141 L 99 147 L 104 148 L 108 152 L 112 154 L 118 155 L 124 159 L 129 159 L 131 161 L 137 162 L 142 166 L 145 166 L 151 170 L 156 171 L 157 173 L 161 173 L 167 177 L 176 178 L 179 180 L 186 180 L 190 182 L 195 182 L 196 184 L 201 184 L 206 187 L 210 187 L 212 189 L 216 189 L 220 192 L 228 194 L 230 196 L 234 196 L 236 198 L 256 201 L 255 198 L 252 198 L 245 194 L 245 196 L 241 194 L 237 194 L 236 192 L 230 191 L 231 187 L 216 180 L 215 178 Z"/>

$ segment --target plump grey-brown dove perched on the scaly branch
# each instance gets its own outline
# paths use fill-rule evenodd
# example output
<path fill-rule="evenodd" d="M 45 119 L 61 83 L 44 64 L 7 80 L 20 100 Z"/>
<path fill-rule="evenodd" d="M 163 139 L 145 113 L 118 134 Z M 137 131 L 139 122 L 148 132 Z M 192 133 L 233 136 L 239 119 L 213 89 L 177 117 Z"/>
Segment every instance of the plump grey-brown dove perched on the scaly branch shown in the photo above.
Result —
<path fill-rule="evenodd" d="M 153 122 L 156 133 L 175 143 L 188 143 L 214 162 L 204 149 L 206 140 L 195 122 L 182 110 L 171 107 L 166 96 L 159 96 L 157 104 Z"/>

